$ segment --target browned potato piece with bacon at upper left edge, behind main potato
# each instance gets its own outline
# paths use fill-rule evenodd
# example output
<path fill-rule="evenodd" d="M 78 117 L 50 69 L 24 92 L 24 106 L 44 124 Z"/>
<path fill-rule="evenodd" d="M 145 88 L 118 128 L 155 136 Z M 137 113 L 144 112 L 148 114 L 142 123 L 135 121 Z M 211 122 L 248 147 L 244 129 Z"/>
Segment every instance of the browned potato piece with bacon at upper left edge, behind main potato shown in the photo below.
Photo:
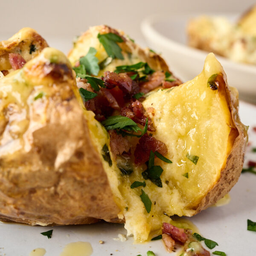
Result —
<path fill-rule="evenodd" d="M 0 78 L 21 68 L 37 56 L 47 42 L 34 29 L 23 28 L 7 41 L 0 42 Z"/>

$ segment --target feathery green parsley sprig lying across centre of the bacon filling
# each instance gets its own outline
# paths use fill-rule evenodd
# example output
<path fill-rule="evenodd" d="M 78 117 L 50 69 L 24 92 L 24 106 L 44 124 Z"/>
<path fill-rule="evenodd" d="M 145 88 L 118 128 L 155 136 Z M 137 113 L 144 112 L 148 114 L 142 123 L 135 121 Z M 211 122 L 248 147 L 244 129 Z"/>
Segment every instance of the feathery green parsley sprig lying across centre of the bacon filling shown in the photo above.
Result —
<path fill-rule="evenodd" d="M 105 126 L 106 130 L 116 130 L 117 134 L 122 134 L 122 136 L 133 136 L 133 137 L 141 137 L 148 130 L 148 118 L 146 119 L 145 126 L 143 130 L 134 122 L 132 119 L 126 116 L 109 116 L 107 119 L 102 121 L 102 125 Z M 125 131 L 134 131 L 141 132 L 140 135 L 130 134 Z"/>

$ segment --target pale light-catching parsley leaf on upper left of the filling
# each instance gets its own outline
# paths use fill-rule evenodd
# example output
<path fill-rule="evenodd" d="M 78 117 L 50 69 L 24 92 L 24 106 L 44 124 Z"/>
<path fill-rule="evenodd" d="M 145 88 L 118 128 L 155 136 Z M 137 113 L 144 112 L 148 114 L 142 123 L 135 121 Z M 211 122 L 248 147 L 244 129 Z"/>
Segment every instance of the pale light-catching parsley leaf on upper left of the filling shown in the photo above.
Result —
<path fill-rule="evenodd" d="M 73 67 L 76 75 L 85 78 L 86 74 L 97 76 L 99 73 L 98 58 L 95 57 L 97 50 L 93 47 L 90 47 L 89 51 L 84 57 L 79 59 L 80 66 Z"/>

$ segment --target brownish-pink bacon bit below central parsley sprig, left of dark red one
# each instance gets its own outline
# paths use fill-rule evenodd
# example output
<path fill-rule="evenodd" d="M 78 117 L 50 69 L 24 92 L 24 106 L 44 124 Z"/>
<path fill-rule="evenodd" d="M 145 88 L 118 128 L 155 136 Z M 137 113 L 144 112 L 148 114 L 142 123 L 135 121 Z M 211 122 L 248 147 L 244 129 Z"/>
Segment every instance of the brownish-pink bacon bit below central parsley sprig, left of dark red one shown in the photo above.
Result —
<path fill-rule="evenodd" d="M 108 133 L 110 135 L 110 148 L 115 157 L 118 154 L 130 151 L 131 144 L 125 137 L 113 130 L 108 131 Z"/>

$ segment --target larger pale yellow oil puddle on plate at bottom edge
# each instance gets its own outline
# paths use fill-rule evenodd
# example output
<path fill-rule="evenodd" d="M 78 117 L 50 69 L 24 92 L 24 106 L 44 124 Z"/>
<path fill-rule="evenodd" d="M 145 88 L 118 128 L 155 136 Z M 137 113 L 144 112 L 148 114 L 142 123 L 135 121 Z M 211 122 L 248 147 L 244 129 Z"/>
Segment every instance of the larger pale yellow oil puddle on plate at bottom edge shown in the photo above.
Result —
<path fill-rule="evenodd" d="M 90 256 L 93 248 L 88 242 L 75 242 L 67 244 L 60 256 Z"/>

